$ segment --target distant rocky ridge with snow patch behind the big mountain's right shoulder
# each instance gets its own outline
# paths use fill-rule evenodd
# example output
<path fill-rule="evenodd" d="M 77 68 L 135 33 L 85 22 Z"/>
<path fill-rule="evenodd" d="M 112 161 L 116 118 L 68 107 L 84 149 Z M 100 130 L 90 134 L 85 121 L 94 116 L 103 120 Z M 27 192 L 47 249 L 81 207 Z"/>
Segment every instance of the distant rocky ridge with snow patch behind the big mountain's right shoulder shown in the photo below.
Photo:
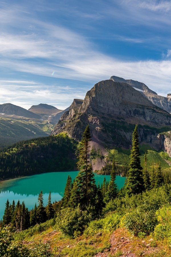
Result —
<path fill-rule="evenodd" d="M 123 79 L 116 76 L 112 76 L 110 79 L 115 82 L 127 83 L 145 95 L 154 105 L 162 108 L 168 113 L 171 113 L 171 94 L 168 94 L 167 97 L 157 95 L 156 92 L 150 90 L 144 83 L 132 79 Z"/>

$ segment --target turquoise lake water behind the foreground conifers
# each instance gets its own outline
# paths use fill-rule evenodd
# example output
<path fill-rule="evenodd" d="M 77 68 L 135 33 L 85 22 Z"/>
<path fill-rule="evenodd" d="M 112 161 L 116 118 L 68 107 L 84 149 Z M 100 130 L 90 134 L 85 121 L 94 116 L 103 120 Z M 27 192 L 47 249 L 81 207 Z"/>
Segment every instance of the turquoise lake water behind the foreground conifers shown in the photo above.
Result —
<path fill-rule="evenodd" d="M 44 205 L 48 202 L 49 192 L 51 192 L 52 202 L 60 200 L 64 194 L 68 175 L 73 180 L 77 174 L 78 171 L 50 172 L 0 182 L 0 219 L 3 217 L 7 199 L 10 203 L 13 200 L 15 203 L 18 200 L 21 203 L 24 201 L 28 209 L 32 209 L 35 203 L 37 204 L 38 194 L 42 190 Z M 110 180 L 110 175 L 98 175 L 96 173 L 94 175 L 96 184 L 100 182 L 101 185 L 104 177 L 106 180 Z M 116 176 L 115 182 L 120 189 L 124 185 L 125 177 Z"/>

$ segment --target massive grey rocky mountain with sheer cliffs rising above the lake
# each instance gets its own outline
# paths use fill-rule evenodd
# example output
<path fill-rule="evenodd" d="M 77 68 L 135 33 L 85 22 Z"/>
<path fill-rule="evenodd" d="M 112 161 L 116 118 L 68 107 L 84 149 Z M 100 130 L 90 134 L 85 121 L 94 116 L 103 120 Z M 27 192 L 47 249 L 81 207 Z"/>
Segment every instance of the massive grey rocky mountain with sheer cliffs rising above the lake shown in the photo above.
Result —
<path fill-rule="evenodd" d="M 106 147 L 129 149 L 133 129 L 138 124 L 141 143 L 157 151 L 163 149 L 171 156 L 171 114 L 148 100 L 142 92 L 150 92 L 146 85 L 137 82 L 136 87 L 139 90 L 113 79 L 95 84 L 84 100 L 74 99 L 52 135 L 67 132 L 70 137 L 80 140 L 89 124 L 92 133 L 91 149 L 94 148 L 96 152 L 100 149 L 101 155 L 105 156 Z M 151 94 L 156 95 L 155 92 Z"/>

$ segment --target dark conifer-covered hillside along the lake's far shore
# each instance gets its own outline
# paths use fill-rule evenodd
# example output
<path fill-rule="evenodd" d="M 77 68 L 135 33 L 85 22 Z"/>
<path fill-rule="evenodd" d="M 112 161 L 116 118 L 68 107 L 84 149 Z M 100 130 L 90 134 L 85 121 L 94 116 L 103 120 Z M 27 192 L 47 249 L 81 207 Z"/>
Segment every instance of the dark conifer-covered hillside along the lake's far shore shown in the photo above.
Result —
<path fill-rule="evenodd" d="M 47 171 L 74 170 L 76 149 L 76 142 L 65 134 L 15 143 L 0 153 L 0 180 Z"/>

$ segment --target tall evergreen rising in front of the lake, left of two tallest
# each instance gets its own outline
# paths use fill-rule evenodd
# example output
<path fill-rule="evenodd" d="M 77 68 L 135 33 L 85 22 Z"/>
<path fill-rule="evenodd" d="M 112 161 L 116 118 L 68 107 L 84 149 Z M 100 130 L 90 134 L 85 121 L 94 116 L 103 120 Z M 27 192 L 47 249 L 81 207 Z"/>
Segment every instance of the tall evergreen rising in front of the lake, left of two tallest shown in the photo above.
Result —
<path fill-rule="evenodd" d="M 79 201 L 81 206 L 88 206 L 91 201 L 93 200 L 95 189 L 95 179 L 92 170 L 91 164 L 89 164 L 89 140 L 90 140 L 90 130 L 89 125 L 87 125 L 83 135 L 82 140 L 80 142 L 80 149 L 79 149 L 79 161 L 78 167 L 80 172 L 76 177 L 76 182 L 78 186 L 78 193 L 79 193 Z"/>

